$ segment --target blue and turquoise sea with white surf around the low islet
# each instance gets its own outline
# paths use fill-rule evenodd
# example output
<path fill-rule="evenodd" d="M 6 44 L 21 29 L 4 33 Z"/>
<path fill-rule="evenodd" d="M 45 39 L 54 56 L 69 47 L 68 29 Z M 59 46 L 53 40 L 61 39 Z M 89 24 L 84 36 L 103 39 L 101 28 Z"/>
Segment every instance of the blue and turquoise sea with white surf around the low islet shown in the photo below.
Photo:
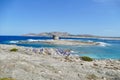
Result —
<path fill-rule="evenodd" d="M 20 40 L 27 41 L 37 41 L 37 40 L 48 40 L 51 37 L 25 37 L 25 36 L 0 36 L 0 44 L 16 44 L 18 46 L 26 47 L 47 47 L 47 48 L 62 48 L 71 49 L 74 52 L 72 54 L 77 54 L 80 56 L 89 56 L 95 59 L 120 59 L 120 40 L 106 40 L 97 38 L 60 38 L 68 40 L 78 40 L 78 41 L 91 41 L 99 42 L 99 46 L 65 46 L 65 45 L 50 45 L 50 44 L 18 44 Z"/>

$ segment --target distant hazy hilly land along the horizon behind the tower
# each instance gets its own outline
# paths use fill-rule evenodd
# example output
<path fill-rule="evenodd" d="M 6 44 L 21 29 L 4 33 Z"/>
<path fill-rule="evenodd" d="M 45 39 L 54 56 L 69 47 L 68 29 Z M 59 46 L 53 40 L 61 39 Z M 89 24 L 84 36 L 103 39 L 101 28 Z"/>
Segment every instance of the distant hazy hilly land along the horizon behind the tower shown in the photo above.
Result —
<path fill-rule="evenodd" d="M 23 34 L 22 36 L 47 36 L 52 37 L 53 35 L 57 35 L 63 38 L 99 38 L 99 39 L 109 39 L 109 40 L 120 40 L 120 37 L 111 37 L 111 36 L 97 36 L 90 34 L 70 34 L 68 32 L 42 32 L 42 33 L 28 33 Z"/>

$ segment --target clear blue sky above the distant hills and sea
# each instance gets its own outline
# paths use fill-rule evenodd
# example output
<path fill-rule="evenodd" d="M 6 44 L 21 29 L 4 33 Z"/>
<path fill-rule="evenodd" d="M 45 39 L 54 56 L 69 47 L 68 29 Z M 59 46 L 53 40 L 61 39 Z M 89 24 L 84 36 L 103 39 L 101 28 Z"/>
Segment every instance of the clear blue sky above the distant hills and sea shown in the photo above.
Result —
<path fill-rule="evenodd" d="M 120 36 L 120 0 L 0 0 L 0 35 Z"/>

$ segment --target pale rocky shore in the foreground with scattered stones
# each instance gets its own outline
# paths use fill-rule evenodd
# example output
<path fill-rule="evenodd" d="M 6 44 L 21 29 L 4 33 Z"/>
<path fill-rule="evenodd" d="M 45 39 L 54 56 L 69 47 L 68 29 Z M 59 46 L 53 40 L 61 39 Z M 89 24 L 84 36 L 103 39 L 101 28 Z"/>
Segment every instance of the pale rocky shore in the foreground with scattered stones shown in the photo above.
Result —
<path fill-rule="evenodd" d="M 120 80 L 119 60 L 83 61 L 70 50 L 0 44 L 0 78 L 15 80 Z"/>

